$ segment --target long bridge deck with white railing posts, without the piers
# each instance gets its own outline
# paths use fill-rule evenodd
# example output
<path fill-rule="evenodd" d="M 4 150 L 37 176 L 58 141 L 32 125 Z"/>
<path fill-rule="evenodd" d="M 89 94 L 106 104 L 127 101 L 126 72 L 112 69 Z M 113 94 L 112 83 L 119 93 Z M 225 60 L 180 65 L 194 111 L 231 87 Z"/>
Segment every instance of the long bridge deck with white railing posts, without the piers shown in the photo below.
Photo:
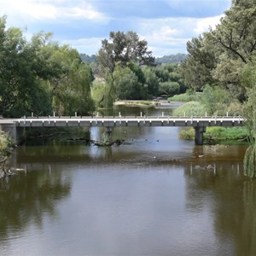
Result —
<path fill-rule="evenodd" d="M 3 119 L 2 119 L 3 120 Z M 10 121 L 10 119 L 9 119 Z M 118 117 L 38 117 L 12 119 L 18 127 L 42 126 L 85 126 L 85 127 L 119 127 L 119 126 L 243 126 L 241 117 L 174 117 L 174 116 L 118 116 Z"/>

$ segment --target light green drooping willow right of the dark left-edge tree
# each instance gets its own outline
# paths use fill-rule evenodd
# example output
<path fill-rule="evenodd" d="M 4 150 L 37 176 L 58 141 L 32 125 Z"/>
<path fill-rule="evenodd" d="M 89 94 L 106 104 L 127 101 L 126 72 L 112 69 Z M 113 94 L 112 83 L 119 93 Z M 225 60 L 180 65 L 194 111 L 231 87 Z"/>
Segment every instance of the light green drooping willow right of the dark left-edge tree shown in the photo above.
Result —
<path fill-rule="evenodd" d="M 70 115 L 92 111 L 90 86 L 93 75 L 89 65 L 81 61 L 78 51 L 68 45 L 58 47 L 50 61 L 58 61 L 61 65 L 60 76 L 49 79 L 56 113 Z"/>

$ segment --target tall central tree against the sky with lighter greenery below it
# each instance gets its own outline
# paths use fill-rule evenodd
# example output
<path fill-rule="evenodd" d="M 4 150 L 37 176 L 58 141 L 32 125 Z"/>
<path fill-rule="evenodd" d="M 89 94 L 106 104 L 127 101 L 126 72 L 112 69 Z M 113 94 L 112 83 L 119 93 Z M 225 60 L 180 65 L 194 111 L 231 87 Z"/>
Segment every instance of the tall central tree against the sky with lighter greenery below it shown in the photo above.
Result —
<path fill-rule="evenodd" d="M 110 32 L 109 41 L 102 40 L 97 63 L 100 75 L 106 80 L 105 97 L 108 101 L 105 101 L 105 107 L 111 107 L 117 98 L 131 99 L 136 96 L 136 99 L 141 99 L 147 95 L 143 91 L 146 79 L 140 68 L 142 65 L 154 65 L 154 57 L 147 44 L 131 31 Z"/>

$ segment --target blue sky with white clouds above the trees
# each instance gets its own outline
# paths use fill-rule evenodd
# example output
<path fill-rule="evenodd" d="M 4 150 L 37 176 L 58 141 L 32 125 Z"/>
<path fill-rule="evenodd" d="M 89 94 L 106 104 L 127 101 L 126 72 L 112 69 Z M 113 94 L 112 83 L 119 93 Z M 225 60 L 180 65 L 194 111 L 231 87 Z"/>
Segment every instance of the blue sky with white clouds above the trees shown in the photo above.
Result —
<path fill-rule="evenodd" d="M 191 38 L 214 28 L 231 0 L 0 0 L 7 27 L 26 38 L 53 32 L 54 41 L 93 55 L 109 32 L 137 32 L 156 57 L 186 53 Z"/>

